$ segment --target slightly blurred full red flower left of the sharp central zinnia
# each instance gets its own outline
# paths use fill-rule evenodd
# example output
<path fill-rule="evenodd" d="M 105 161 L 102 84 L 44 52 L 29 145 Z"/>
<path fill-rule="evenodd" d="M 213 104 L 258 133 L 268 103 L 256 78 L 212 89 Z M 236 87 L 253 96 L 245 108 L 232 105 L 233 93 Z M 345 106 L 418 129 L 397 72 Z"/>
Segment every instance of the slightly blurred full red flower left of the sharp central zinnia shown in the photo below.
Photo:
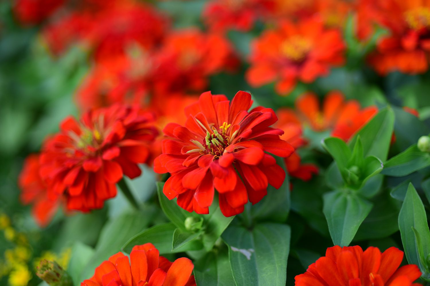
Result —
<path fill-rule="evenodd" d="M 49 192 L 63 194 L 69 210 L 103 207 L 116 196 L 123 175 L 138 177 L 157 131 L 152 114 L 137 107 L 112 105 L 66 118 L 49 138 L 40 158 L 40 174 Z"/>

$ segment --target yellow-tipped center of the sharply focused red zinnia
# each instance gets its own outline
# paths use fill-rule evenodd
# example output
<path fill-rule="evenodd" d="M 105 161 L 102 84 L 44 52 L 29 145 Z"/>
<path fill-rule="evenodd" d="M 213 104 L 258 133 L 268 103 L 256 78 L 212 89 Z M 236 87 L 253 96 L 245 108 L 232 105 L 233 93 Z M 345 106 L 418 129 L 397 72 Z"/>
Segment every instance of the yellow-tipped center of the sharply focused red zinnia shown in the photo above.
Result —
<path fill-rule="evenodd" d="M 205 141 L 203 147 L 206 149 L 206 154 L 215 155 L 215 159 L 221 157 L 224 153 L 224 149 L 229 145 L 229 136 L 227 135 L 227 129 L 231 124 L 224 122 L 222 126 L 219 126 L 218 130 L 212 126 L 213 133 L 206 132 Z"/>

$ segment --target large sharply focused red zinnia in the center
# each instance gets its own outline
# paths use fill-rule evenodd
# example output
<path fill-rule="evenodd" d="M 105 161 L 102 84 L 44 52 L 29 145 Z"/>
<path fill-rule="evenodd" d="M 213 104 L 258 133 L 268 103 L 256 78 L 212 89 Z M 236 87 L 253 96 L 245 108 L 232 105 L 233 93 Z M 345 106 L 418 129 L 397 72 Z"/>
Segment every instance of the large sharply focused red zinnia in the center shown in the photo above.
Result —
<path fill-rule="evenodd" d="M 277 120 L 273 110 L 248 111 L 251 104 L 251 94 L 244 91 L 231 102 L 202 93 L 185 108 L 185 127 L 166 126 L 163 154 L 154 164 L 156 172 L 171 174 L 163 189 L 169 199 L 178 197 L 181 208 L 207 214 L 216 189 L 221 211 L 229 217 L 241 213 L 248 199 L 259 202 L 268 184 L 281 187 L 285 172 L 265 152 L 288 157 L 294 148 L 279 138 L 282 130 L 269 127 Z"/>

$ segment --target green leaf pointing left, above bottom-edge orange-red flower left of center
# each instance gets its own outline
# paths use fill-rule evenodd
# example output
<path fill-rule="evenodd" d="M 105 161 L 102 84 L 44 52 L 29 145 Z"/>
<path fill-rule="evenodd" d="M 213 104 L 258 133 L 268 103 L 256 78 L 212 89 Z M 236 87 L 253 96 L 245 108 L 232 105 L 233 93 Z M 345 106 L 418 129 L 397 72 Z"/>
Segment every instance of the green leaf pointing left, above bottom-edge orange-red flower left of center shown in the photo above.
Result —
<path fill-rule="evenodd" d="M 184 252 L 188 250 L 200 250 L 202 244 L 199 241 L 192 241 L 184 247 L 172 251 L 173 234 L 175 233 L 176 226 L 173 223 L 161 223 L 145 229 L 143 232 L 138 233 L 127 241 L 122 250 L 130 253 L 135 245 L 145 243 L 152 243 L 160 251 L 160 254 Z"/>

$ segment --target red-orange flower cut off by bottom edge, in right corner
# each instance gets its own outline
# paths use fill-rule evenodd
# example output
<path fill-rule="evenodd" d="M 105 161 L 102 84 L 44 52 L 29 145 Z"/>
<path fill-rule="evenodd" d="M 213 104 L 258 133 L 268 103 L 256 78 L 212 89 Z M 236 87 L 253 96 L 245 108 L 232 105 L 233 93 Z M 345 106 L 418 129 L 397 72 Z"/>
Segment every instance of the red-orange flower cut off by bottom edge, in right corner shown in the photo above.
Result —
<path fill-rule="evenodd" d="M 403 252 L 390 247 L 381 253 L 376 247 L 334 246 L 326 256 L 309 265 L 306 273 L 295 277 L 296 286 L 421 286 L 417 265 L 402 263 Z"/>

